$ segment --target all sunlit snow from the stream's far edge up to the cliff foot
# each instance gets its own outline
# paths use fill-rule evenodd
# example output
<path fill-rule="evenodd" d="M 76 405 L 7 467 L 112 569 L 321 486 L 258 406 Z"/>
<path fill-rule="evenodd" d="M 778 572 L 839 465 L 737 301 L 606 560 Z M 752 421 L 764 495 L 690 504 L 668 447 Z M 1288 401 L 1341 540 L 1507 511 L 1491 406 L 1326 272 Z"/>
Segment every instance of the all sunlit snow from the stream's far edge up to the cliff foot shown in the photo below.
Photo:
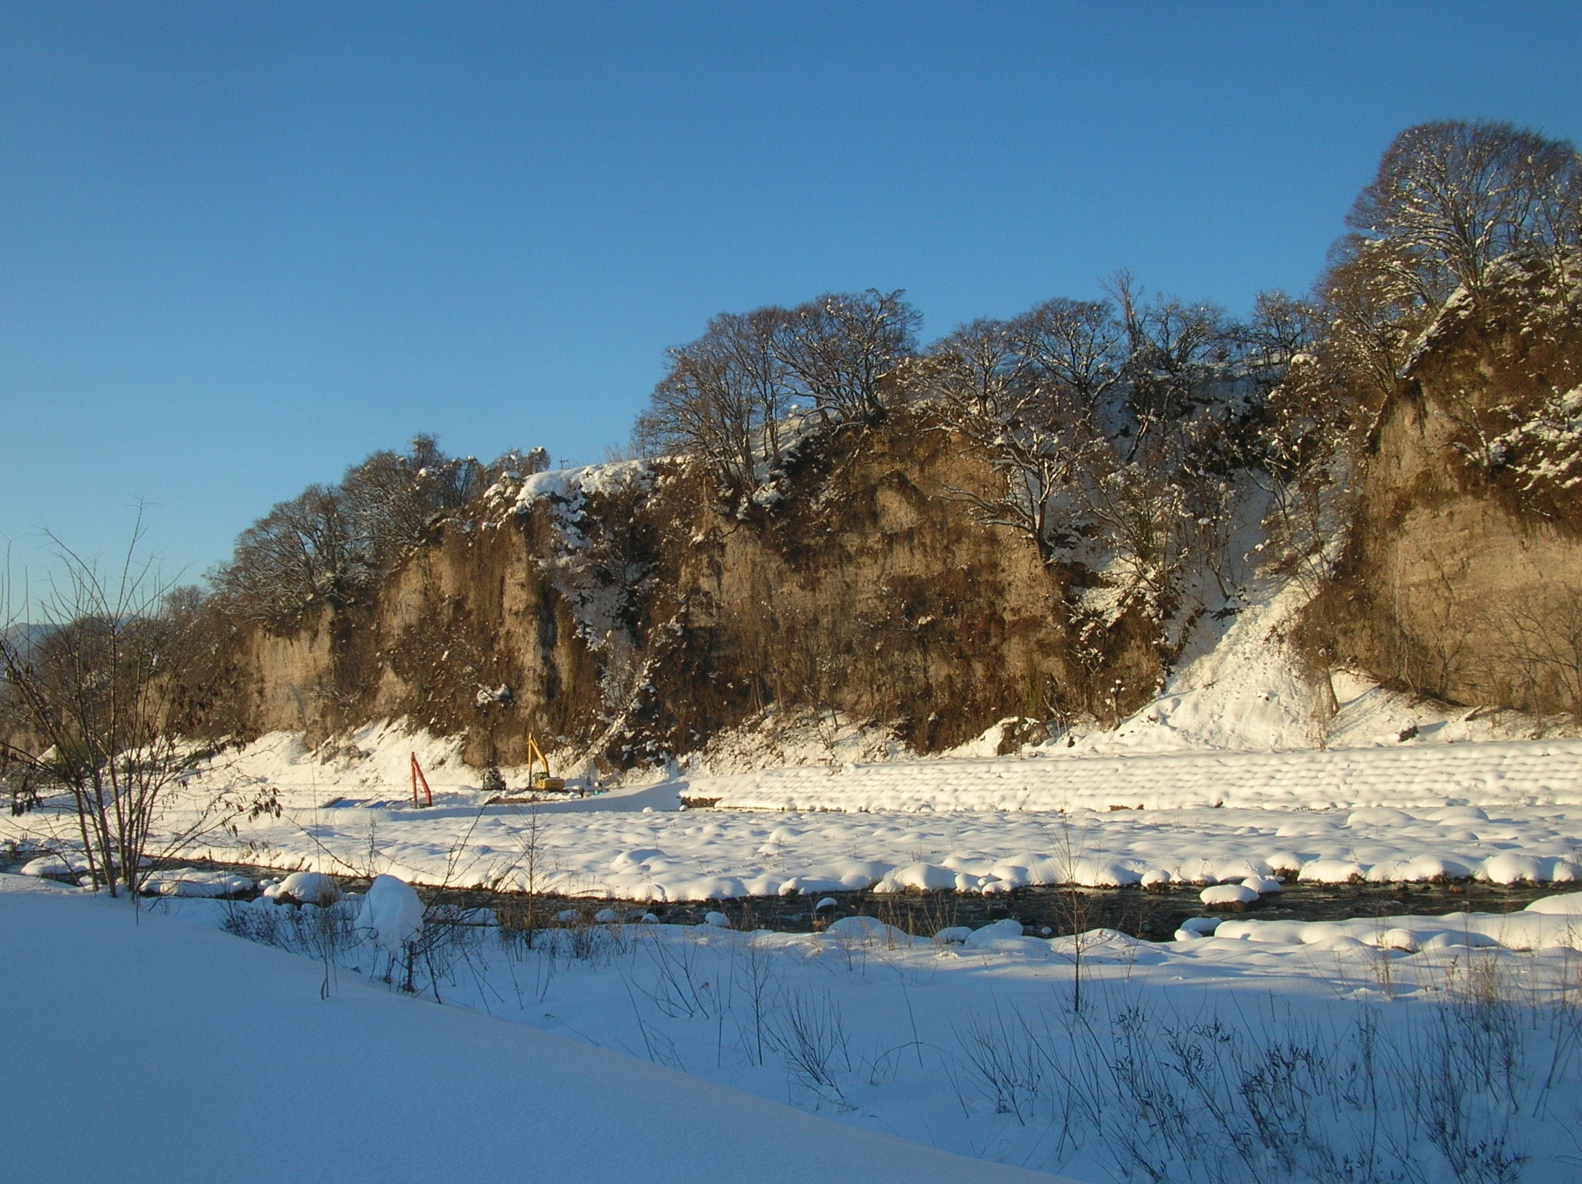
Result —
<path fill-rule="evenodd" d="M 1000 725 L 924 760 L 873 730 L 807 723 L 739 731 L 595 796 L 490 806 L 454 738 L 375 725 L 310 749 L 275 733 L 214 758 L 188 791 L 267 788 L 280 817 L 239 820 L 187 853 L 527 886 L 530 842 L 536 890 L 645 901 L 1250 874 L 1582 877 L 1582 741 L 1511 739 L 1542 723 L 1444 711 L 1338 674 L 1330 747 L 1315 749 L 1316 695 L 1278 641 L 1289 603 L 1275 592 L 1215 625 L 1118 728 L 1003 755 Z M 432 809 L 411 806 L 413 755 L 438 793 Z M 527 769 L 503 776 L 522 785 Z M 74 822 L 60 806 L 0 818 L 0 834 L 70 856 Z M 177 810 L 168 825 L 184 817 L 196 815 Z"/>

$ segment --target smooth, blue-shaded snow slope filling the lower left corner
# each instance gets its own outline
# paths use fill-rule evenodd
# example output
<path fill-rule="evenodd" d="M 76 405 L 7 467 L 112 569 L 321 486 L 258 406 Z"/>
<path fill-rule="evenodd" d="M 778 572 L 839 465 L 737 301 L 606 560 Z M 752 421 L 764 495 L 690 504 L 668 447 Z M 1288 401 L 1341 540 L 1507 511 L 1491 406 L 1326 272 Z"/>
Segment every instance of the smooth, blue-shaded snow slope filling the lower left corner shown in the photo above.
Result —
<path fill-rule="evenodd" d="M 1044 1181 L 0 877 L 14 1181 Z M 21 886 L 21 890 L 19 890 Z"/>

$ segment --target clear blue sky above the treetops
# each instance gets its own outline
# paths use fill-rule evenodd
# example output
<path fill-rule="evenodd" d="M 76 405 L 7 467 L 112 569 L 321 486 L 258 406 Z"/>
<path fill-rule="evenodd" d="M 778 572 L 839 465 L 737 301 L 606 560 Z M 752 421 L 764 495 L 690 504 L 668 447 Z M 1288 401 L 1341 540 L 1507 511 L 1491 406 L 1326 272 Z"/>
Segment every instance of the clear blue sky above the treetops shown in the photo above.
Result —
<path fill-rule="evenodd" d="M 0 538 L 201 575 L 414 432 L 622 442 L 715 312 L 1305 290 L 1389 139 L 1582 139 L 1579 3 L 0 5 Z"/>

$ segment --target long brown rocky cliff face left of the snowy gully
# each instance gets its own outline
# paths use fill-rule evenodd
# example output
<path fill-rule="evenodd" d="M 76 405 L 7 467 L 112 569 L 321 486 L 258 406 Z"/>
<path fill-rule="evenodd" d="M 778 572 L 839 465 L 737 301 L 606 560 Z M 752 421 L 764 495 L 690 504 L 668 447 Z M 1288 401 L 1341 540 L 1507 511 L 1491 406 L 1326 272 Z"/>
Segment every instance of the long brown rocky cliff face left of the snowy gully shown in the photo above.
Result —
<path fill-rule="evenodd" d="M 372 601 L 244 635 L 236 714 L 313 736 L 405 715 L 479 765 L 524 760 L 532 728 L 625 766 L 766 709 L 919 750 L 1131 709 L 1161 676 L 1152 630 L 1122 617 L 1077 660 L 1071 575 L 959 497 L 990 480 L 897 416 L 805 443 L 769 505 L 721 507 L 674 462 L 503 484 Z"/>

